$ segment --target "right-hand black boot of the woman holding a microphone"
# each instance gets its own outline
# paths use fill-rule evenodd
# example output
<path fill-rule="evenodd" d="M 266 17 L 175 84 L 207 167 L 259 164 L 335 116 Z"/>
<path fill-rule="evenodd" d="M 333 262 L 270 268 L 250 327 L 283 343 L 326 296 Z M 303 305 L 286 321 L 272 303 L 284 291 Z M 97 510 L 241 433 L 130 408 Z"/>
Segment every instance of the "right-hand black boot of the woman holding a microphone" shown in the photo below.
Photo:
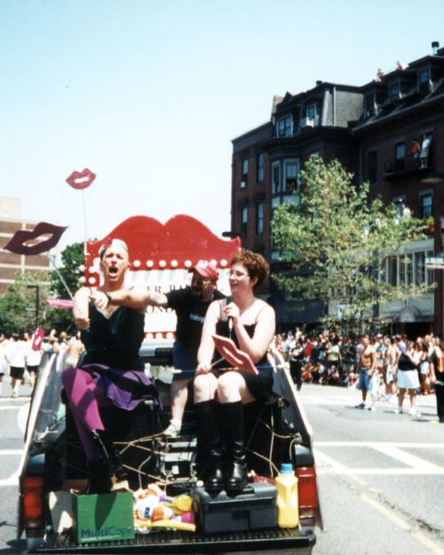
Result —
<path fill-rule="evenodd" d="M 222 403 L 220 411 L 225 424 L 226 491 L 241 493 L 247 485 L 242 401 Z"/>

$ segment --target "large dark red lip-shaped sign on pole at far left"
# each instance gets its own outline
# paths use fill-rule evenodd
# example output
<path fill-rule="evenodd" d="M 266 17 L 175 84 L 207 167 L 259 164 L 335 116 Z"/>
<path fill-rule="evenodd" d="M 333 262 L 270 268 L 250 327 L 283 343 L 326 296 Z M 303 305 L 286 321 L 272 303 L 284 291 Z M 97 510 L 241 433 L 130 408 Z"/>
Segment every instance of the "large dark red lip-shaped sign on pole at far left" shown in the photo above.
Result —
<path fill-rule="evenodd" d="M 57 245 L 67 226 L 40 222 L 34 229 L 20 229 L 4 245 L 5 250 L 26 256 L 42 254 Z M 49 235 L 49 236 L 48 236 Z M 28 244 L 30 243 L 30 244 Z"/>

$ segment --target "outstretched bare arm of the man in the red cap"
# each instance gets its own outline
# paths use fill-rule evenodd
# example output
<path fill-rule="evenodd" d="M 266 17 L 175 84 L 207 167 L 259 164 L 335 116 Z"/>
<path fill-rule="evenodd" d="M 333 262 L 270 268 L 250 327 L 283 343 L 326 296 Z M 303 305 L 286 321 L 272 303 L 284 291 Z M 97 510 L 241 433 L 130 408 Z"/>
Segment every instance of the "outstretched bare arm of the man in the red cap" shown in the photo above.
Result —
<path fill-rule="evenodd" d="M 164 293 L 149 291 L 146 287 L 133 287 L 132 289 L 119 289 L 104 293 L 95 291 L 90 299 L 93 300 L 99 310 L 104 310 L 108 305 L 128 306 L 134 310 L 145 312 L 147 306 L 163 306 L 168 303 Z"/>

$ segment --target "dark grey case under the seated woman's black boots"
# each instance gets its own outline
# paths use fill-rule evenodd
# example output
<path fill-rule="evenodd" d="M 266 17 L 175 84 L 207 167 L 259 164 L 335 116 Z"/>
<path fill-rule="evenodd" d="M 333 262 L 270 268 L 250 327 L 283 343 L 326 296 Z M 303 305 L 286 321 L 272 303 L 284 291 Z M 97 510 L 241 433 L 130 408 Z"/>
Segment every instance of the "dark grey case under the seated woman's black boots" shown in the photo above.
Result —
<path fill-rule="evenodd" d="M 205 534 L 246 532 L 273 528 L 277 523 L 276 487 L 266 482 L 250 484 L 237 496 L 225 491 L 210 495 L 205 488 L 195 488 L 194 511 Z"/>

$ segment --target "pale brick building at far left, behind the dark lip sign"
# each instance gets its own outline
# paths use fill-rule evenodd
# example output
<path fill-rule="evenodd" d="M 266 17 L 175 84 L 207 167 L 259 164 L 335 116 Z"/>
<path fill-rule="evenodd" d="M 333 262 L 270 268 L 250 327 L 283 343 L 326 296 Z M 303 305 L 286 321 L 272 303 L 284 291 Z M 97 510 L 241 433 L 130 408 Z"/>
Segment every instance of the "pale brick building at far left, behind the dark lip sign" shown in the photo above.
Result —
<path fill-rule="evenodd" d="M 33 229 L 36 222 L 20 218 L 20 200 L 0 197 L 0 246 L 3 247 L 19 229 Z M 0 248 L 0 294 L 15 281 L 17 272 L 37 273 L 49 270 L 48 257 L 12 254 Z"/>

